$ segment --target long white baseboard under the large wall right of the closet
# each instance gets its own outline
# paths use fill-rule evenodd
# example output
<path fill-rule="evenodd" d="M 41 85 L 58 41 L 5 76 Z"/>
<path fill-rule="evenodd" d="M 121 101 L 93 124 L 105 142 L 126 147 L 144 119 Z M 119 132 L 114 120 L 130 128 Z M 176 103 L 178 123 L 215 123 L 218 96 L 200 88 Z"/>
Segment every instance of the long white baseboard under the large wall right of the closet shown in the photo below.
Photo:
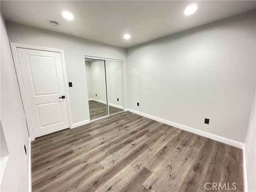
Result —
<path fill-rule="evenodd" d="M 204 136 L 204 137 L 207 137 L 207 138 L 210 138 L 210 139 L 213 139 L 213 140 L 216 140 L 216 141 L 219 141 L 219 142 L 222 142 L 222 143 L 234 146 L 234 147 L 238 147 L 240 149 L 243 149 L 243 147 L 244 147 L 244 144 L 241 143 L 241 142 L 237 142 L 237 141 L 234 141 L 234 140 L 231 140 L 231 139 L 228 139 L 228 138 L 224 138 L 224 137 L 221 137 L 221 136 L 218 136 L 218 135 L 214 135 L 214 134 L 211 134 L 211 133 L 208 133 L 208 132 L 204 132 L 204 131 L 197 130 L 197 129 L 194 129 L 194 128 L 191 128 L 191 127 L 188 127 L 188 126 L 184 126 L 184 125 L 181 125 L 181 124 L 178 124 L 178 123 L 174 123 L 174 122 L 171 122 L 171 121 L 168 121 L 168 120 L 164 120 L 164 119 L 161 119 L 161 118 L 158 118 L 158 117 L 155 117 L 155 116 L 152 116 L 152 115 L 148 115 L 148 114 L 145 114 L 145 113 L 133 110 L 133 109 L 128 108 L 127 110 L 132 112 L 132 113 L 135 113 L 135 114 L 138 114 L 138 115 L 141 115 L 141 116 L 159 121 L 161 123 L 168 124 L 170 126 L 174 126 L 176 128 L 180 128 L 180 129 L 186 130 L 188 132 L 192 132 L 194 134 L 198 134 L 198 135 L 201 135 L 201 136 Z"/>

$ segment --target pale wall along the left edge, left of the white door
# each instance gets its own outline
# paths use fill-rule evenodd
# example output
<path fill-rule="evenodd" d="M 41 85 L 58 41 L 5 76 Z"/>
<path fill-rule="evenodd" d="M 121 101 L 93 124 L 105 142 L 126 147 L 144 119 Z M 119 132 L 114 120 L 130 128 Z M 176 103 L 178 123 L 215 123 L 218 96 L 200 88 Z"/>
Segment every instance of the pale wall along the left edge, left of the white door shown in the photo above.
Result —
<path fill-rule="evenodd" d="M 28 191 L 28 130 L 10 44 L 1 14 L 1 122 L 9 158 L 1 191 Z"/>

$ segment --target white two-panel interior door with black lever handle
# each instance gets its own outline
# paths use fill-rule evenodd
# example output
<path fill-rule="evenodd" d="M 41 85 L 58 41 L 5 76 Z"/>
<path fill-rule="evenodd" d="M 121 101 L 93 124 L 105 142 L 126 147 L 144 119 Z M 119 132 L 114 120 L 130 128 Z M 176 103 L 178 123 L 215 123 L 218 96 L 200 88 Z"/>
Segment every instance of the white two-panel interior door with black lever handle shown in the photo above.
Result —
<path fill-rule="evenodd" d="M 60 53 L 17 50 L 35 137 L 69 128 Z"/>

